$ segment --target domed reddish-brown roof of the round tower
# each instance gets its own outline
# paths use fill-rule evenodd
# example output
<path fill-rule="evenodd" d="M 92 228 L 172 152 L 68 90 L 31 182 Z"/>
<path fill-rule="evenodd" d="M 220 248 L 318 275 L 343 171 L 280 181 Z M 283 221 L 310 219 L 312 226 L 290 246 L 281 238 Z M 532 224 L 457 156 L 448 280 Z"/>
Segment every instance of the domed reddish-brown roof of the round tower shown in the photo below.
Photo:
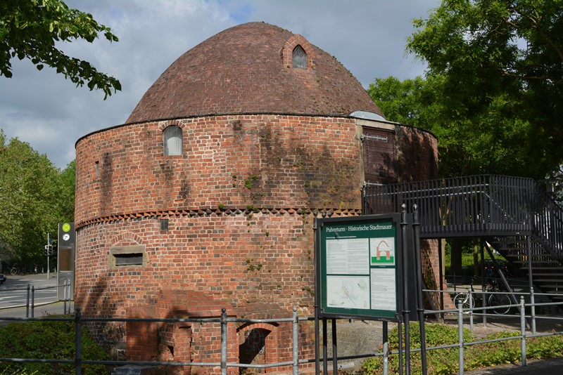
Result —
<path fill-rule="evenodd" d="M 293 67 L 292 51 L 307 54 Z M 250 22 L 180 56 L 146 91 L 127 123 L 207 114 L 381 114 L 360 82 L 301 35 Z"/>

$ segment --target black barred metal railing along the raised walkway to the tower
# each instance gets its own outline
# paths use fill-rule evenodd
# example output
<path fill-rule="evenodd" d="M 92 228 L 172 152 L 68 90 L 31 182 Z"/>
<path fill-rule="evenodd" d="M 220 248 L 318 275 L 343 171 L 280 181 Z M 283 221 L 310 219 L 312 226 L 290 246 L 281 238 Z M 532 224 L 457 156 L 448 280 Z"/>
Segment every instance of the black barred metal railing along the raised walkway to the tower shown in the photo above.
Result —
<path fill-rule="evenodd" d="M 531 178 L 479 175 L 367 185 L 365 214 L 417 204 L 421 237 L 532 235 L 563 259 L 563 211 Z"/>

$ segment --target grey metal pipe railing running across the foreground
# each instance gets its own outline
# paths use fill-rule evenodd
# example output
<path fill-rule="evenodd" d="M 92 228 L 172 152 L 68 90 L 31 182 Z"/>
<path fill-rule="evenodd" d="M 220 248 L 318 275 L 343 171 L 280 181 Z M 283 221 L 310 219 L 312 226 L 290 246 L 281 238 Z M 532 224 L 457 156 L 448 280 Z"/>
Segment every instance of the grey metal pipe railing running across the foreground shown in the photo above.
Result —
<path fill-rule="evenodd" d="M 428 290 L 431 291 L 431 290 Z M 434 291 L 431 292 L 448 292 L 448 291 Z M 451 291 L 450 291 L 451 292 Z M 481 291 L 475 293 L 483 293 Z M 502 292 L 505 293 L 505 292 Z M 511 337 L 503 337 L 503 338 L 496 338 L 491 340 L 481 340 L 481 341 L 472 341 L 472 342 L 464 342 L 463 338 L 463 328 L 464 328 L 464 321 L 469 316 L 469 320 L 471 320 L 470 327 L 473 329 L 473 321 L 472 317 L 481 315 L 486 317 L 487 315 L 493 315 L 492 313 L 488 313 L 488 310 L 493 308 L 498 308 L 499 306 L 483 306 L 483 307 L 472 307 L 472 308 L 464 308 L 462 304 L 458 305 L 455 309 L 445 309 L 445 310 L 425 310 L 424 315 L 440 315 L 440 314 L 457 314 L 457 327 L 458 327 L 458 342 L 453 343 L 450 345 L 444 346 L 435 346 L 435 347 L 427 347 L 426 351 L 429 350 L 439 350 L 445 348 L 457 348 L 460 350 L 459 352 L 459 371 L 460 374 L 463 374 L 463 367 L 464 367 L 464 348 L 468 346 L 475 346 L 484 343 L 492 343 L 495 341 L 508 341 L 508 340 L 520 340 L 521 341 L 521 365 L 526 366 L 526 339 L 533 338 L 533 337 L 540 337 L 540 336 L 553 336 L 553 335 L 560 335 L 563 334 L 563 331 L 559 332 L 549 332 L 545 333 L 538 333 L 535 329 L 535 324 L 533 325 L 534 329 L 531 333 L 526 331 L 526 318 L 532 317 L 534 320 L 536 319 L 544 319 L 544 317 L 540 317 L 532 313 L 532 315 L 526 315 L 526 309 L 531 309 L 532 311 L 537 306 L 559 306 L 562 305 L 561 303 L 534 303 L 533 302 L 533 294 L 526 294 L 526 293 L 518 293 L 519 296 L 519 303 L 517 304 L 510 304 L 505 305 L 505 307 L 510 308 L 519 308 L 519 313 L 517 315 L 510 315 L 512 318 L 519 318 L 519 327 L 520 327 L 520 334 L 518 336 L 511 336 Z M 531 302 L 525 302 L 525 296 L 530 296 Z M 552 294 L 550 294 L 552 296 Z M 498 315 L 493 315 L 498 316 Z M 20 322 L 28 322 L 28 321 L 37 321 L 37 320 L 46 320 L 46 321 L 67 321 L 67 322 L 74 322 L 75 324 L 75 357 L 69 359 L 61 359 L 61 360 L 46 360 L 46 359 L 38 359 L 38 358 L 0 358 L 2 362 L 42 362 L 42 363 L 60 363 L 60 364 L 73 364 L 75 367 L 75 374 L 82 374 L 82 365 L 84 364 L 105 364 L 105 365 L 113 365 L 113 366 L 125 366 L 125 365 L 148 365 L 148 366 L 171 366 L 171 367 L 218 367 L 220 368 L 221 374 L 227 374 L 227 369 L 236 367 L 246 367 L 246 368 L 253 368 L 253 369 L 266 369 L 272 367 L 288 367 L 291 366 L 293 374 L 298 374 L 298 368 L 300 364 L 310 364 L 315 362 L 315 359 L 300 359 L 298 353 L 298 330 L 299 330 L 299 323 L 304 321 L 314 320 L 313 317 L 299 317 L 297 313 L 297 309 L 293 308 L 293 315 L 288 318 L 281 318 L 281 319 L 243 319 L 243 318 L 234 318 L 234 317 L 227 317 L 227 313 L 225 309 L 222 309 L 222 314 L 220 317 L 210 317 L 210 318 L 186 318 L 186 319 L 156 319 L 156 318 L 103 318 L 103 317 L 83 317 L 80 308 L 75 310 L 75 315 L 73 317 L 25 317 L 25 318 L 17 318 L 17 317 L 3 317 L 0 320 L 7 320 L 7 321 L 20 321 Z M 547 317 L 545 317 L 547 319 Z M 563 317 L 549 317 L 550 320 L 561 320 L 563 321 Z M 82 357 L 82 326 L 87 322 L 199 322 L 201 324 L 220 324 L 221 327 L 221 353 L 220 353 L 220 362 L 155 362 L 155 361 L 118 361 L 118 360 L 87 360 Z M 241 364 L 241 363 L 231 363 L 227 362 L 227 324 L 237 324 L 237 323 L 272 323 L 272 322 L 291 322 L 292 325 L 292 360 L 286 362 L 275 362 L 275 363 L 268 363 L 268 364 Z M 485 320 L 486 324 L 486 320 Z M 419 348 L 411 349 L 410 353 L 417 353 L 419 352 Z M 403 353 L 404 355 L 405 353 Z M 388 350 L 387 343 L 384 343 L 382 350 L 375 351 L 374 353 L 365 353 L 360 355 L 351 355 L 347 357 L 338 357 L 338 360 L 350 360 L 350 359 L 363 359 L 369 357 L 383 357 L 384 364 L 388 363 L 389 357 L 392 355 L 400 355 L 398 350 L 390 351 Z M 327 360 L 332 360 L 332 358 L 327 358 Z M 385 371 L 387 371 L 387 367 L 384 367 Z M 387 374 L 387 372 L 384 372 Z"/>

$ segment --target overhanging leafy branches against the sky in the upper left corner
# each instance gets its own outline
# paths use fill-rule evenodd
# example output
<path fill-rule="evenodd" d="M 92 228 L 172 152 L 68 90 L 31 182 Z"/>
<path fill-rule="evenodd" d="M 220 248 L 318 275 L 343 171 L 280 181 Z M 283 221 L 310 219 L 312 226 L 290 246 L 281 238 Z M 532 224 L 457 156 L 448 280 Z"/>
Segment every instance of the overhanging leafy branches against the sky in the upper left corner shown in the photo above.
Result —
<path fill-rule="evenodd" d="M 30 59 L 38 70 L 44 65 L 77 86 L 101 89 L 105 98 L 121 90 L 118 79 L 98 72 L 89 62 L 65 55 L 56 43 L 84 39 L 93 42 L 99 34 L 118 41 L 109 27 L 89 13 L 70 9 L 62 0 L 0 1 L 0 75 L 12 77 L 12 58 Z"/>

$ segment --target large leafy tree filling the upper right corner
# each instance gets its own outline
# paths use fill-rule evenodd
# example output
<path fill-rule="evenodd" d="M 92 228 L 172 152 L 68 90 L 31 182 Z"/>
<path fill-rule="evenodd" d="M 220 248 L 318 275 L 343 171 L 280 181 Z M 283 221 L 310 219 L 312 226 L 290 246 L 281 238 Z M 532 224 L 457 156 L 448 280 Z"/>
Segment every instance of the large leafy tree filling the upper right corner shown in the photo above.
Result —
<path fill-rule="evenodd" d="M 563 161 L 563 0 L 444 0 L 407 50 L 441 107 L 443 174 L 540 179 Z M 438 84 L 437 84 L 438 83 Z M 428 103 L 426 103 L 428 104 Z M 457 155 L 456 155 L 457 153 Z"/>

